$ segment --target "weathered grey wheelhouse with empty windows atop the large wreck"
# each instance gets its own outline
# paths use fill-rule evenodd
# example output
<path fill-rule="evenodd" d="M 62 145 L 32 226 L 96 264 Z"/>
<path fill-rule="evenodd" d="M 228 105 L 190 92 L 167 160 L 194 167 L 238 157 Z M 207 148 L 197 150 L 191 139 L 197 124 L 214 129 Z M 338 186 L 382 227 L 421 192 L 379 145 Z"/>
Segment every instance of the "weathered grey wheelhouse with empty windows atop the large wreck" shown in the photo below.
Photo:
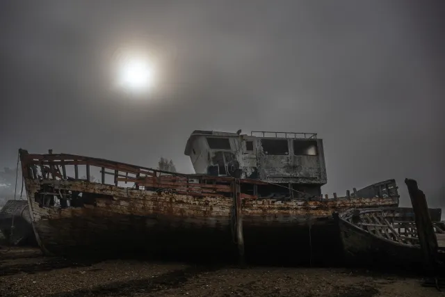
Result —
<path fill-rule="evenodd" d="M 314 133 L 195 130 L 184 154 L 198 174 L 267 182 L 252 193 L 260 197 L 319 197 L 327 183 L 323 141 Z"/>

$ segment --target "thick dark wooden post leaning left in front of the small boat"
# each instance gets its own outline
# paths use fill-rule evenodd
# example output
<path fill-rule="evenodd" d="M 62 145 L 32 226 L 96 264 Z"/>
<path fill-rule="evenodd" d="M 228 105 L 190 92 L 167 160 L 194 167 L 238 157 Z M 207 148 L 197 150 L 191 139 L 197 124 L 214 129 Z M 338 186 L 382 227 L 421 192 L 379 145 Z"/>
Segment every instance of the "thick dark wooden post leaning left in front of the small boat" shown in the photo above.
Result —
<path fill-rule="evenodd" d="M 405 179 L 405 184 L 410 193 L 414 218 L 416 220 L 417 236 L 419 236 L 427 272 L 437 275 L 437 238 L 432 227 L 425 194 L 419 190 L 417 182 L 414 179 Z"/>

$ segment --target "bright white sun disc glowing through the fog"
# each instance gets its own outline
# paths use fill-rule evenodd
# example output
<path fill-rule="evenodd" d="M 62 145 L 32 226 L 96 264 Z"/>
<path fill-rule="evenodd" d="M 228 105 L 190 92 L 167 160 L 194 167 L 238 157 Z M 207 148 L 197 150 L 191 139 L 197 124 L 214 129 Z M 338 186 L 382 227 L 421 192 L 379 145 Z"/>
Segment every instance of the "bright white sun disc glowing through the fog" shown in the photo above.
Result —
<path fill-rule="evenodd" d="M 119 67 L 119 83 L 123 88 L 136 92 L 153 88 L 154 66 L 146 58 L 129 57 Z"/>

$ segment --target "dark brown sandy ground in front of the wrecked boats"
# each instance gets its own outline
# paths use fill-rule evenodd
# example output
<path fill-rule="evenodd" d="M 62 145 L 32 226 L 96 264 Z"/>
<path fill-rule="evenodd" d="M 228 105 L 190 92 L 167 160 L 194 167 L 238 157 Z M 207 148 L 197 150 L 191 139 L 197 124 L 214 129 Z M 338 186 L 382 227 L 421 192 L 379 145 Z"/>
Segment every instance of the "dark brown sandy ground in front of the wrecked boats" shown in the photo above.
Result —
<path fill-rule="evenodd" d="M 421 278 L 346 268 L 73 262 L 0 249 L 0 296 L 445 296 Z"/>

